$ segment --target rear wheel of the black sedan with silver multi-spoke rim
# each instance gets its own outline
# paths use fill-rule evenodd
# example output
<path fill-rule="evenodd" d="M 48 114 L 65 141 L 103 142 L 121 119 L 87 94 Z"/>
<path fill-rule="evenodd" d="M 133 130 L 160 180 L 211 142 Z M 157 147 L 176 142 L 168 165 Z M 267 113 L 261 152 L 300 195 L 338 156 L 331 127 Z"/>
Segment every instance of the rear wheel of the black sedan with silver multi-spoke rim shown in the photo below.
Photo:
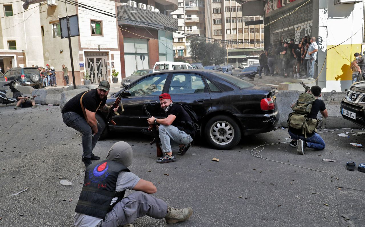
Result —
<path fill-rule="evenodd" d="M 207 122 L 204 136 L 214 148 L 228 150 L 241 140 L 241 129 L 231 117 L 219 115 Z"/>

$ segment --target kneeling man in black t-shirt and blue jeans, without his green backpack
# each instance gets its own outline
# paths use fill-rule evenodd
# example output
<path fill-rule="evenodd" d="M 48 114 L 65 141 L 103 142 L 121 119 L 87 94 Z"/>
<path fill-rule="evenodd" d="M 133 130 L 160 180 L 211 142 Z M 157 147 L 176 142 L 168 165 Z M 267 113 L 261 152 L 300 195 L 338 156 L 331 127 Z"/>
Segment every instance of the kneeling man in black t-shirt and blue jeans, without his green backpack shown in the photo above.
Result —
<path fill-rule="evenodd" d="M 308 93 L 314 95 L 316 100 L 313 102 L 311 112 L 307 115 L 307 118 L 316 119 L 319 111 L 323 117 L 328 117 L 326 105 L 324 105 L 323 100 L 318 99 L 322 96 L 321 91 L 322 89 L 319 86 L 312 86 L 311 90 L 308 91 Z M 307 134 L 307 138 L 304 137 L 302 129 L 290 128 L 288 129 L 288 133 L 292 138 L 292 141 L 289 144 L 292 147 L 297 147 L 297 152 L 299 154 L 304 154 L 304 149 L 306 147 L 323 150 L 326 146 L 322 137 L 320 137 L 318 133 L 312 132 Z"/>

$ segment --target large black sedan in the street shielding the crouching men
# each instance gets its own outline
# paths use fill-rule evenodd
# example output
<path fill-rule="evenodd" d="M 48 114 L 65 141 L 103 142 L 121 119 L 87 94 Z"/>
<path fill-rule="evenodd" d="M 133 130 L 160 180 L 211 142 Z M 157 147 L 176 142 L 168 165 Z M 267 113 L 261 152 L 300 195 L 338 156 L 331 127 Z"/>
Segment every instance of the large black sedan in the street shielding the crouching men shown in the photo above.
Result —
<path fill-rule="evenodd" d="M 106 125 L 104 113 L 96 118 L 103 127 L 100 138 L 109 130 L 140 131 L 146 129 L 147 111 L 165 118 L 159 95 L 169 93 L 172 101 L 191 105 L 197 114 L 201 138 L 216 149 L 231 149 L 241 136 L 270 132 L 276 128 L 279 111 L 275 90 L 212 70 L 174 70 L 145 75 L 131 83 L 122 98 L 124 113 L 115 116 L 116 125 Z M 112 94 L 114 103 L 124 89 Z"/>

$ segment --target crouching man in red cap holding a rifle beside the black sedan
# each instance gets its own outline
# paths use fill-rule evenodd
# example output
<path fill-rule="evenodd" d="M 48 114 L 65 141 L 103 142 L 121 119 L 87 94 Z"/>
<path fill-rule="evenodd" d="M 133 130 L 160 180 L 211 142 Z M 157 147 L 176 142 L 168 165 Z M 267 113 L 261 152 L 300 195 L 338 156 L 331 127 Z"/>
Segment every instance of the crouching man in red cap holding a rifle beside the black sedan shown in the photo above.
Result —
<path fill-rule="evenodd" d="M 157 159 L 157 163 L 170 163 L 176 161 L 171 145 L 179 145 L 177 154 L 184 155 L 193 141 L 194 131 L 188 129 L 187 123 L 192 120 L 187 111 L 178 103 L 173 103 L 169 94 L 160 95 L 160 105 L 167 117 L 157 119 L 152 116 L 147 119 L 147 122 L 148 124 L 160 124 L 158 132 L 160 133 L 161 149 L 165 154 Z M 149 130 L 151 129 L 149 128 Z"/>

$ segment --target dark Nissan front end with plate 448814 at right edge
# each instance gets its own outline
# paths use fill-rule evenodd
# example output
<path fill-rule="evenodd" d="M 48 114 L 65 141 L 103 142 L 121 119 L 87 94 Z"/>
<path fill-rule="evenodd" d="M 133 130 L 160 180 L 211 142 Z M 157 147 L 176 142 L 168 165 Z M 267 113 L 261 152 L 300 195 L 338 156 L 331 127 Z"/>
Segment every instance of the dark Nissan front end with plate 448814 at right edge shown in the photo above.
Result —
<path fill-rule="evenodd" d="M 365 81 L 354 83 L 341 101 L 342 117 L 365 128 Z"/>

